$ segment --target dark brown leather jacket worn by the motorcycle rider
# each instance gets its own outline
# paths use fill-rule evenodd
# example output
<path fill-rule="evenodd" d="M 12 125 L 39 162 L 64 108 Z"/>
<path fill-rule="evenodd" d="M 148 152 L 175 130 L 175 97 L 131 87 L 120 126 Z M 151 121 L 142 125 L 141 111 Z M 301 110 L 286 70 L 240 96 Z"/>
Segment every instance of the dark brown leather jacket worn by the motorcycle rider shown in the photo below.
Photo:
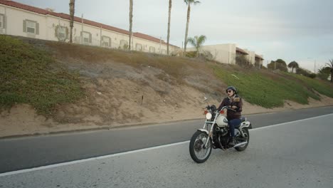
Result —
<path fill-rule="evenodd" d="M 221 110 L 221 108 L 223 106 L 237 106 L 237 108 L 235 109 L 235 111 L 233 110 L 227 110 L 227 119 L 228 120 L 233 120 L 233 119 L 237 119 L 240 118 L 242 116 L 241 112 L 242 112 L 242 108 L 243 108 L 243 101 L 242 98 L 240 98 L 238 95 L 234 95 L 233 98 L 224 98 L 222 100 L 221 105 L 218 107 L 218 110 Z"/>

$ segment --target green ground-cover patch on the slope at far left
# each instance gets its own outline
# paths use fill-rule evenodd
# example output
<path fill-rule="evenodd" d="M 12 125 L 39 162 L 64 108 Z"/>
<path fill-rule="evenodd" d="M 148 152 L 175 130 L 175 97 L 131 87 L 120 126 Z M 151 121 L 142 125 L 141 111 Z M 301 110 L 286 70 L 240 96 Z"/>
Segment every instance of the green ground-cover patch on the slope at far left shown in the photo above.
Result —
<path fill-rule="evenodd" d="M 28 103 L 50 115 L 58 103 L 77 100 L 83 91 L 78 76 L 61 68 L 46 51 L 0 35 L 0 108 Z"/>

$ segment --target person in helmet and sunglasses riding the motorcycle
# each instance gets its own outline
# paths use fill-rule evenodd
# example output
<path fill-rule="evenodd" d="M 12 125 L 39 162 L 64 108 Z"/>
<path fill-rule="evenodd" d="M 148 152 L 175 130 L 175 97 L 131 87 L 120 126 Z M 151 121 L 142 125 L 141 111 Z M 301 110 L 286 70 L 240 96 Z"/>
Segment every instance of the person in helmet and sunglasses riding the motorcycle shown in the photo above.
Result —
<path fill-rule="evenodd" d="M 221 105 L 218 107 L 218 110 L 221 110 L 223 106 L 228 106 L 229 108 L 233 109 L 227 110 L 227 119 L 228 125 L 231 132 L 231 140 L 229 141 L 230 146 L 235 145 L 235 126 L 240 125 L 241 120 L 241 112 L 243 107 L 242 98 L 237 95 L 237 90 L 233 86 L 228 86 L 226 88 L 227 97 L 224 98 L 221 102 Z"/>

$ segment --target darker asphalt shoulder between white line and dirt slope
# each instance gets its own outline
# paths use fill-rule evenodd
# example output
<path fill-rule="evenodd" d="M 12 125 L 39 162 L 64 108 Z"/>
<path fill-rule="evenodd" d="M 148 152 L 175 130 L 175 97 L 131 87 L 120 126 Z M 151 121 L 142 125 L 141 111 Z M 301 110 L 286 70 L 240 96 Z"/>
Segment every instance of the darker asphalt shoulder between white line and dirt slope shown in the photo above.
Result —
<path fill-rule="evenodd" d="M 255 128 L 329 113 L 333 113 L 333 107 L 248 115 L 248 120 Z M 182 142 L 189 140 L 202 125 L 203 120 L 189 120 L 164 125 L 2 139 L 0 173 Z"/>

